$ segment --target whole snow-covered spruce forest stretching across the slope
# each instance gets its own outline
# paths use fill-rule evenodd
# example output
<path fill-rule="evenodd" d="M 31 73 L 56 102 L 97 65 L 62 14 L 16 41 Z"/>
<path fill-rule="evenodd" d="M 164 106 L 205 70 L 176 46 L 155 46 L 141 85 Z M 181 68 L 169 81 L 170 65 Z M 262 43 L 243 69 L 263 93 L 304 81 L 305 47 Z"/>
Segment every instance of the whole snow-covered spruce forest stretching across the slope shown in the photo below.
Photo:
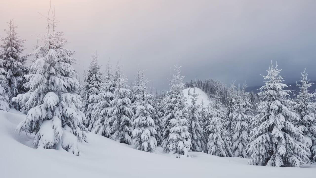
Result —
<path fill-rule="evenodd" d="M 135 70 L 128 80 L 123 64 L 101 66 L 105 59 L 97 53 L 80 80 L 73 68 L 80 61 L 58 31 L 62 22 L 52 9 L 45 19 L 46 32 L 33 53 L 23 53 L 26 39 L 19 37 L 14 20 L 0 45 L 0 110 L 25 114 L 15 134 L 32 136 L 36 150 L 62 149 L 80 159 L 79 143 L 89 145 L 87 134 L 94 133 L 150 154 L 161 149 L 177 160 L 202 152 L 246 158 L 257 166 L 301 167 L 316 161 L 316 93 L 310 91 L 314 83 L 308 69 L 297 76 L 294 97 L 282 64 L 270 60 L 255 92 L 246 92 L 246 82 L 227 86 L 187 79 L 180 64 L 173 66 L 170 88 L 157 91 L 146 69 Z M 198 102 L 198 89 L 208 102 Z"/>

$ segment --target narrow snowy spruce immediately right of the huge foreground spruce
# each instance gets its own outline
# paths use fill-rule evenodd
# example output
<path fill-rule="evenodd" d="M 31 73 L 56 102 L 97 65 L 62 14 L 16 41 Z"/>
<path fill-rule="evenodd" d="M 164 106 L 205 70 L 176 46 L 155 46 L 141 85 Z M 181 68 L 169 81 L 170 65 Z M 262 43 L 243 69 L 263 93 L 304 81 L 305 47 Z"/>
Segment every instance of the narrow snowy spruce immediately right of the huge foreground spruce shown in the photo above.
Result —
<path fill-rule="evenodd" d="M 98 103 L 98 94 L 100 93 L 102 77 L 100 73 L 101 66 L 98 64 L 98 55 L 93 54 L 90 59 L 90 68 L 87 75 L 87 85 L 85 86 L 85 115 L 84 125 L 89 131 L 94 127 L 94 123 L 98 118 L 94 118 L 94 108 Z"/>

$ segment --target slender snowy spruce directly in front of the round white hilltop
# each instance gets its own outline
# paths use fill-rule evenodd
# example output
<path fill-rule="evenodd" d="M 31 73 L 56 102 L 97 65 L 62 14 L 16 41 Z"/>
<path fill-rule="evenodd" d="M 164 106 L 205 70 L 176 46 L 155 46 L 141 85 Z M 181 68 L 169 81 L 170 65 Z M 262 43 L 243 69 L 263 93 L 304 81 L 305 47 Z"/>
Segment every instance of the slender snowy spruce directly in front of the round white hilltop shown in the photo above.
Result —
<path fill-rule="evenodd" d="M 193 83 L 193 92 L 190 93 L 189 98 L 191 99 L 191 105 L 189 106 L 189 133 L 191 137 L 191 150 L 204 152 L 205 151 L 205 144 L 206 140 L 204 137 L 204 130 L 201 124 L 201 116 L 198 112 L 198 105 L 197 105 L 197 97 L 199 94 L 195 92 L 196 89 L 196 82 Z"/>

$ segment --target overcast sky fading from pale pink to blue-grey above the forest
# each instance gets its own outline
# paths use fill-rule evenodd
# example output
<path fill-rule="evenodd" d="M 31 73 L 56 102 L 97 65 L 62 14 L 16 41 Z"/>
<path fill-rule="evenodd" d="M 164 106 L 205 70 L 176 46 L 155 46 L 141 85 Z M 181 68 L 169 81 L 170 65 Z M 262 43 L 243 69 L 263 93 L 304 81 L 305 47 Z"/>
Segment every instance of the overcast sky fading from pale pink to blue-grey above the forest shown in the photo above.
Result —
<path fill-rule="evenodd" d="M 95 51 L 124 65 L 130 81 L 138 67 L 158 89 L 166 89 L 170 67 L 179 60 L 185 80 L 214 78 L 229 84 L 262 84 L 270 60 L 278 60 L 288 82 L 307 67 L 316 79 L 315 0 L 52 0 L 57 30 L 63 31 L 83 72 Z M 32 52 L 44 33 L 48 0 L 2 1 L 0 29 L 15 19 Z M 1 30 L 0 34 L 4 35 Z"/>

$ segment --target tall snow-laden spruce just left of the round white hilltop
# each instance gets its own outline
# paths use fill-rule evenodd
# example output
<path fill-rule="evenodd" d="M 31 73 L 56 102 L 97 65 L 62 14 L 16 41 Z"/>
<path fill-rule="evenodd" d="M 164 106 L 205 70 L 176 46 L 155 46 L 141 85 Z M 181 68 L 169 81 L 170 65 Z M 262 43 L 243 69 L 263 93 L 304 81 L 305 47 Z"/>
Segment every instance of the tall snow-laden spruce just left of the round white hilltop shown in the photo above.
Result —
<path fill-rule="evenodd" d="M 172 75 L 171 89 L 168 93 L 166 112 L 164 115 L 164 141 L 162 148 L 166 153 L 188 156 L 191 150 L 190 133 L 188 132 L 188 120 L 186 99 L 183 93 L 184 84 L 182 80 L 184 76 L 180 75 L 180 67 L 175 66 L 175 73 Z"/>

